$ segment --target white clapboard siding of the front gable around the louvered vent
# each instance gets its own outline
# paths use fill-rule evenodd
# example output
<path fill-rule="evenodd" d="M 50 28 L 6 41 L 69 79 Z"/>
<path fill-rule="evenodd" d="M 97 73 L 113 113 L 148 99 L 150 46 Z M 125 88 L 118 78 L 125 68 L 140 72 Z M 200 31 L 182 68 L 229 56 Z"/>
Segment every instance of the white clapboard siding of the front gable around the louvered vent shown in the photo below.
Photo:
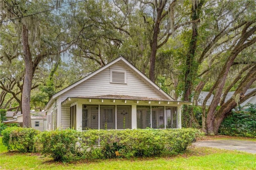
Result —
<path fill-rule="evenodd" d="M 127 83 L 110 83 L 110 69 L 126 71 Z M 76 85 L 59 97 L 61 97 L 62 102 L 68 97 L 98 95 L 130 95 L 166 99 L 163 94 L 157 92 L 155 88 L 147 84 L 145 80 L 142 80 L 139 75 L 132 72 L 130 68 L 124 66 L 120 61 Z"/>

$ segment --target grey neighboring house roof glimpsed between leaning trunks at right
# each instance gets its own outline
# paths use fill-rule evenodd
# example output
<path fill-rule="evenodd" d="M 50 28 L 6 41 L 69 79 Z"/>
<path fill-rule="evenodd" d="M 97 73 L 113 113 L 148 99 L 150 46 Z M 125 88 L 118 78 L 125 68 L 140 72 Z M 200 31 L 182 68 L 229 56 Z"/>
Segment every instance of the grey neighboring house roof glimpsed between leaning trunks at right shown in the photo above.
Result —
<path fill-rule="evenodd" d="M 247 95 L 248 93 L 255 91 L 256 88 L 249 88 L 244 95 Z M 201 92 L 200 96 L 198 98 L 198 105 L 202 106 L 205 97 L 208 95 L 209 92 Z M 235 92 L 228 92 L 228 94 L 225 96 L 225 102 L 228 101 L 230 98 L 233 97 L 233 94 Z M 223 96 L 223 95 L 222 95 Z M 210 106 L 212 99 L 213 99 L 214 95 L 211 95 L 211 97 L 207 100 L 206 102 L 206 106 Z M 246 101 L 244 101 L 243 103 L 240 104 L 240 106 L 244 106 L 244 109 L 248 108 L 247 104 L 248 103 L 252 103 L 252 104 L 256 104 L 256 95 L 250 97 L 249 99 L 247 99 Z"/>

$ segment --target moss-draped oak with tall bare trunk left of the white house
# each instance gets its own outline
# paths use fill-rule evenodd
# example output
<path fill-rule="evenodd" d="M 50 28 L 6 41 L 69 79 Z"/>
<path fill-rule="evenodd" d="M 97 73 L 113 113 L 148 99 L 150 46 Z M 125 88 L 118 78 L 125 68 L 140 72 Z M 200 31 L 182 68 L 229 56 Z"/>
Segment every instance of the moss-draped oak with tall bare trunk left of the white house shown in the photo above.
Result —
<path fill-rule="evenodd" d="M 55 5 L 56 3 L 51 1 L 1 1 L 2 21 L 14 19 L 8 22 L 1 21 L 1 29 L 8 32 L 8 26 L 10 23 L 13 24 L 17 40 L 22 44 L 19 50 L 3 46 L 1 51 L 16 54 L 16 57 L 22 57 L 24 61 L 24 78 L 21 85 L 23 127 L 31 127 L 30 92 L 38 64 L 50 58 L 49 56 L 59 56 L 72 44 L 72 40 L 65 39 L 65 31 L 61 30 L 62 23 L 58 16 L 49 11 L 34 15 Z M 22 53 L 18 53 L 19 51 Z"/>

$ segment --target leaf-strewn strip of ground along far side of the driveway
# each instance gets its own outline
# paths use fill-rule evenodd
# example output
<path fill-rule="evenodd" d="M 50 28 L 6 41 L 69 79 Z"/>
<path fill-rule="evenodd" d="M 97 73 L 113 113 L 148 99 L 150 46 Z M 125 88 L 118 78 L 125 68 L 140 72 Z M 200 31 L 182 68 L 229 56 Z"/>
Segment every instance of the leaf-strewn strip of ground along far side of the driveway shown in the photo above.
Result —
<path fill-rule="evenodd" d="M 240 137 L 240 136 L 216 135 L 216 136 L 204 136 L 200 140 L 201 141 L 210 141 L 210 140 L 240 140 L 240 141 L 256 142 L 256 137 Z"/>

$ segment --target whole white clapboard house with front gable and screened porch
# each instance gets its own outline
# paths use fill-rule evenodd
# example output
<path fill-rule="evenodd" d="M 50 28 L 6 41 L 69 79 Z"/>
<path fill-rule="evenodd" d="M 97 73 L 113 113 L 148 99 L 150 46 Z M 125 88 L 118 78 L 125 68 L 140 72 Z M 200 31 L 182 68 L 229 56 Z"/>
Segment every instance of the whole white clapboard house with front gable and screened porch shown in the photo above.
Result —
<path fill-rule="evenodd" d="M 54 94 L 47 129 L 181 128 L 181 106 L 123 57 Z"/>

